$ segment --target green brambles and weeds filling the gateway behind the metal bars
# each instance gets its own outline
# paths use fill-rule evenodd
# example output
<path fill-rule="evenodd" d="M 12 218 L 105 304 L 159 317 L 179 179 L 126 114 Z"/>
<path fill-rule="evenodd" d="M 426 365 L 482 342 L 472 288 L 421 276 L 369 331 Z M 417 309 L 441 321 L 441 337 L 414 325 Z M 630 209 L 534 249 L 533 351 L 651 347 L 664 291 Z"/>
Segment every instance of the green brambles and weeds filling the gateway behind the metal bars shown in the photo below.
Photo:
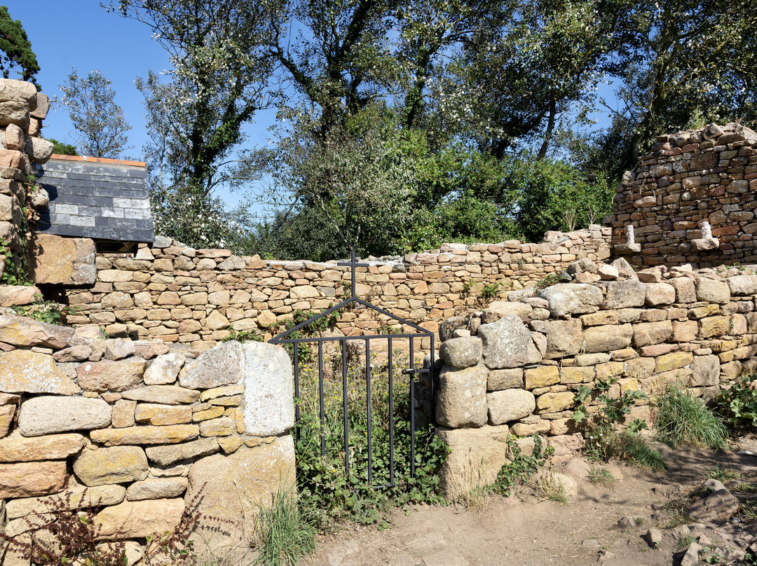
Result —
<path fill-rule="evenodd" d="M 407 363 L 397 365 L 394 376 L 401 375 Z M 307 515 L 319 528 L 329 530 L 335 520 L 388 526 L 388 509 L 412 502 L 444 503 L 439 491 L 438 468 L 447 458 L 449 448 L 434 434 L 430 425 L 416 430 L 416 477 L 410 477 L 410 394 L 406 380 L 394 382 L 394 462 L 395 486 L 371 487 L 368 484 L 365 369 L 350 366 L 347 379 L 347 421 L 350 473 L 344 470 L 344 409 L 341 367 L 335 366 L 336 378 L 324 382 L 324 424 L 319 420 L 317 372 L 310 366 L 301 372 L 301 420 L 298 423 L 296 456 L 298 493 Z M 386 367 L 372 364 L 371 371 L 372 470 L 376 486 L 389 483 L 389 391 Z M 326 455 L 321 455 L 321 434 L 326 441 Z"/>

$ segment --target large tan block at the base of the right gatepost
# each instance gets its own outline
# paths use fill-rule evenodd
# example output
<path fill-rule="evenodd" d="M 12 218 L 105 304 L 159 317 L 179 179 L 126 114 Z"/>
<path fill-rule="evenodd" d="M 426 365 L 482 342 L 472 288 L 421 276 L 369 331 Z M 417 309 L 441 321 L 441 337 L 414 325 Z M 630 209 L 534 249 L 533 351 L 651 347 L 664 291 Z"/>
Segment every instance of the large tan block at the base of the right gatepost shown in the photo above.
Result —
<path fill-rule="evenodd" d="M 450 447 L 439 469 L 441 490 L 450 500 L 494 483 L 508 461 L 506 425 L 496 427 L 438 428 L 437 436 Z"/>

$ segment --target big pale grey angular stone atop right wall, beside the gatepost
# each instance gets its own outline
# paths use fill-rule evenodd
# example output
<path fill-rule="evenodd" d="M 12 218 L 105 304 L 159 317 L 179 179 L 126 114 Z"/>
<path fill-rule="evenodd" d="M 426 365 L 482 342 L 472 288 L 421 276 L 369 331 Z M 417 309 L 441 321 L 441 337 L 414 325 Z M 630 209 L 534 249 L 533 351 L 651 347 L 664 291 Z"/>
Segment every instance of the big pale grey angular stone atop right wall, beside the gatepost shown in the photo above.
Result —
<path fill-rule="evenodd" d="M 484 363 L 489 369 L 509 369 L 541 361 L 541 353 L 531 334 L 517 316 L 504 316 L 481 325 L 478 337 L 484 347 Z"/>

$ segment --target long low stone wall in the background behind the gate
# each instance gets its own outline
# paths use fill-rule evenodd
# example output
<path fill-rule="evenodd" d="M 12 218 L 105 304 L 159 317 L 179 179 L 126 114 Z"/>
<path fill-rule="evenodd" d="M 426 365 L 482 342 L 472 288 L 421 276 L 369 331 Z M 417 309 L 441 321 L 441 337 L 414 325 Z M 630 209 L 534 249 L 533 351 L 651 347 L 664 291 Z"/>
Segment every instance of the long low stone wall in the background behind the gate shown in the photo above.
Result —
<path fill-rule="evenodd" d="M 368 268 L 357 268 L 357 294 L 435 331 L 441 320 L 475 308 L 486 284 L 500 283 L 502 294 L 559 274 L 575 260 L 609 257 L 609 229 L 599 226 L 548 232 L 545 239 L 444 244 L 426 253 L 372 259 Z M 53 244 L 48 249 L 50 257 L 60 257 Z M 232 330 L 269 337 L 276 322 L 291 318 L 294 310 L 324 309 L 350 295 L 350 272 L 336 262 L 235 257 L 228 250 L 194 250 L 168 238 L 157 238 L 152 248 L 142 245 L 136 256 L 98 254 L 96 263 L 94 285 L 66 289 L 65 300 L 76 309 L 67 321 L 101 325 L 113 336 L 191 344 L 213 344 Z M 59 284 L 58 271 L 42 275 L 40 268 L 36 283 Z M 386 318 L 344 313 L 337 327 L 345 334 L 371 334 L 388 323 Z"/>

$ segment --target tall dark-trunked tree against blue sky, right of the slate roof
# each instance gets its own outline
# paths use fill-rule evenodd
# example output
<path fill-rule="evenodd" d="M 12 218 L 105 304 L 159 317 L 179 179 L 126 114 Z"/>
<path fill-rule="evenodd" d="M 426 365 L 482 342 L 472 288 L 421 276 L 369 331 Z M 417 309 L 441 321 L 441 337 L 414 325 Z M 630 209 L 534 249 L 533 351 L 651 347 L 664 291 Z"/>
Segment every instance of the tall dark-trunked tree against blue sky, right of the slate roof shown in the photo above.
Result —
<path fill-rule="evenodd" d="M 269 104 L 277 0 L 120 0 L 107 9 L 150 26 L 170 57 L 164 81 L 155 73 L 138 81 L 148 114 L 159 107 L 160 120 L 171 123 L 167 147 L 149 149 L 170 161 L 164 185 L 210 197 L 230 181 L 226 166 L 244 126 Z"/>

